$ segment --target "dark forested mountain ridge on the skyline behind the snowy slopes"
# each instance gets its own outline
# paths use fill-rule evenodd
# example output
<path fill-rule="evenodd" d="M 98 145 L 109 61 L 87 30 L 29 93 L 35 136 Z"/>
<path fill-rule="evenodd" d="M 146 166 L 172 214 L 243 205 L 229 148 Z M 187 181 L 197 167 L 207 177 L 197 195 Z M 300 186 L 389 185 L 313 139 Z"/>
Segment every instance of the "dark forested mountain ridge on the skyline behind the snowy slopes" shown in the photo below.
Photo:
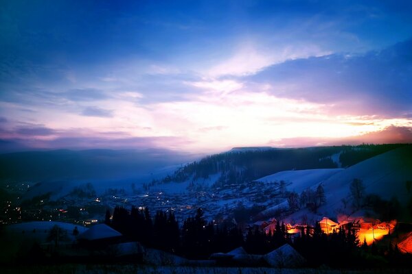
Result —
<path fill-rule="evenodd" d="M 181 183 L 191 186 L 244 184 L 279 171 L 336 169 L 404 145 L 359 145 L 275 149 L 271 147 L 234 148 L 186 164 L 173 174 L 154 180 L 148 187 Z M 161 188 L 167 188 L 162 186 Z"/>

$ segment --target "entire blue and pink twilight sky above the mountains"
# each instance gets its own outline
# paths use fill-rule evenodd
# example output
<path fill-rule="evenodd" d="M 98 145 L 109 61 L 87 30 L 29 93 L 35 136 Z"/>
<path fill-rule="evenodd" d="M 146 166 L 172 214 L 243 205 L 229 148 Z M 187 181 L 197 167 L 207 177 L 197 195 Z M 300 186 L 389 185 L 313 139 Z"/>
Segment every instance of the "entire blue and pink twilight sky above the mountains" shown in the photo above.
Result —
<path fill-rule="evenodd" d="M 411 1 L 0 1 L 0 149 L 412 142 Z"/>

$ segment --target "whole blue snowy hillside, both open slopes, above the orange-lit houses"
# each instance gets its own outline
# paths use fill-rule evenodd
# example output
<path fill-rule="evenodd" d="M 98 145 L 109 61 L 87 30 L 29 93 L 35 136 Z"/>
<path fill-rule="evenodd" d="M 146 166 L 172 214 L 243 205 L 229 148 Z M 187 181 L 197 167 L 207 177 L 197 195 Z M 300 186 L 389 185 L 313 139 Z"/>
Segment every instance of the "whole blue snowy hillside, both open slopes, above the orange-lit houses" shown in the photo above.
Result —
<path fill-rule="evenodd" d="M 350 186 L 354 179 L 363 186 L 363 206 L 359 209 L 352 206 L 354 198 Z M 255 179 L 255 182 L 270 184 L 282 180 L 286 182 L 288 192 L 297 192 L 298 195 L 308 189 L 315 192 L 319 185 L 323 186 L 325 203 L 316 212 L 301 206 L 301 210 L 290 213 L 284 197 L 277 205 L 260 212 L 260 216 L 273 216 L 275 212 L 284 210 L 283 218 L 287 221 L 299 221 L 302 216 L 310 220 L 319 220 L 323 216 L 337 219 L 341 214 L 380 218 L 396 210 L 398 212 L 394 214 L 398 219 L 412 219 L 412 145 L 392 149 L 347 169 L 282 171 Z"/>

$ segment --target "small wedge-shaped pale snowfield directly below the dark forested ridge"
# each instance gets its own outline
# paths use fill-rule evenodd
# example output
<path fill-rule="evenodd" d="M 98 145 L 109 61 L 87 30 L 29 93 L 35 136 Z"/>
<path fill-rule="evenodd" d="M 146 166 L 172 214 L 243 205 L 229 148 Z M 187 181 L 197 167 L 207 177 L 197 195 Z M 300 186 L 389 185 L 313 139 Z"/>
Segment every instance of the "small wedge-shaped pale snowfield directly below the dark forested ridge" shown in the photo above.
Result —
<path fill-rule="evenodd" d="M 301 192 L 306 188 L 317 186 L 330 176 L 339 174 L 344 169 L 306 169 L 302 171 L 281 171 L 260 179 L 256 182 L 272 183 L 285 181 L 292 184 L 287 186 L 288 191 Z"/>

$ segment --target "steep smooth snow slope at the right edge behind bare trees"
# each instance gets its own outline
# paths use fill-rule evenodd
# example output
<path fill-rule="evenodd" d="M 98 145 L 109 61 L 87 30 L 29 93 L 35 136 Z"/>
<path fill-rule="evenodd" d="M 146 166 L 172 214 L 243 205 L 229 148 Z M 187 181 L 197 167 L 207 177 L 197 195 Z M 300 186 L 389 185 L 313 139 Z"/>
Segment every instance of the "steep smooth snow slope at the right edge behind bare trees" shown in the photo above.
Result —
<path fill-rule="evenodd" d="M 412 180 L 412 145 L 380 154 L 325 179 L 323 187 L 328 200 L 325 212 L 332 216 L 342 207 L 341 199 L 349 197 L 353 179 L 363 180 L 367 195 L 376 194 L 382 199 L 397 197 L 406 204 L 411 196 L 406 182 Z"/>

